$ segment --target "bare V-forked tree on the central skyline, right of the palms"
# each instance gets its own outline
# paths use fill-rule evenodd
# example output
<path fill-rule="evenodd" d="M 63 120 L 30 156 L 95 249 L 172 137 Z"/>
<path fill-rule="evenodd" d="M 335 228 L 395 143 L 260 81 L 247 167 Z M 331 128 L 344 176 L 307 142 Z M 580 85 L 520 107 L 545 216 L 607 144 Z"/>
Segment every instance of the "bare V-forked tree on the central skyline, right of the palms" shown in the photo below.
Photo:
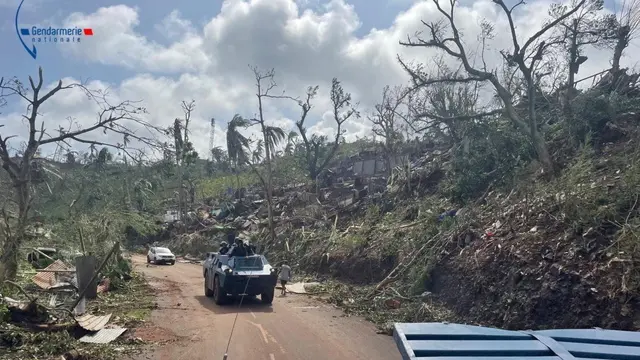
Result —
<path fill-rule="evenodd" d="M 327 144 L 326 136 L 318 136 L 315 134 L 309 136 L 304 122 L 312 108 L 311 100 L 317 94 L 318 86 L 310 86 L 307 89 L 305 100 L 296 100 L 302 109 L 302 114 L 300 115 L 300 120 L 296 122 L 296 127 L 300 132 L 300 137 L 302 137 L 309 178 L 314 182 L 317 182 L 318 176 L 326 169 L 329 162 L 331 162 L 335 156 L 336 151 L 338 151 L 340 141 L 344 138 L 345 130 L 342 129 L 343 124 L 352 117 L 360 117 L 360 113 L 357 110 L 358 104 L 352 104 L 351 94 L 344 91 L 338 79 L 333 78 L 331 81 L 330 98 L 333 119 L 337 125 L 336 135 L 330 144 Z"/>

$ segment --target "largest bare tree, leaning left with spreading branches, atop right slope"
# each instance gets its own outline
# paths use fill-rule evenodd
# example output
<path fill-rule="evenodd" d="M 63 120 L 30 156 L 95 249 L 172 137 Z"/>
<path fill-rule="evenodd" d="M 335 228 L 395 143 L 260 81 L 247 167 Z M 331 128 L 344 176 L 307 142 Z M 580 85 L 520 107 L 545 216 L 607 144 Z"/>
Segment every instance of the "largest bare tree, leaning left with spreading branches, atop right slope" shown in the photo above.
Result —
<path fill-rule="evenodd" d="M 504 113 L 511 120 L 513 125 L 528 137 L 531 145 L 536 151 L 538 161 L 541 163 L 545 172 L 554 173 L 553 160 L 549 154 L 546 140 L 544 135 L 541 133 L 536 116 L 536 93 L 537 85 L 540 80 L 540 74 L 537 74 L 536 71 L 543 60 L 545 51 L 547 51 L 551 46 L 558 44 L 558 42 L 555 41 L 545 41 L 543 36 L 551 29 L 555 28 L 559 23 L 578 11 L 584 5 L 586 0 L 581 0 L 569 11 L 564 12 L 561 16 L 546 23 L 540 30 L 527 39 L 524 42 L 524 45 L 520 45 L 512 16 L 513 11 L 518 6 L 524 4 L 524 2 L 519 1 L 512 7 L 508 7 L 502 0 L 493 0 L 493 2 L 502 9 L 509 23 L 513 47 L 510 51 L 502 51 L 501 54 L 506 60 L 507 65 L 510 67 L 516 67 L 520 76 L 524 79 L 528 103 L 526 116 L 523 116 L 518 112 L 516 109 L 516 103 L 514 102 L 513 93 L 503 84 L 503 81 L 498 78 L 495 71 L 488 69 L 486 61 L 484 61 L 484 56 L 482 56 L 482 67 L 475 66 L 470 60 L 469 52 L 463 44 L 462 35 L 456 25 L 456 19 L 454 16 L 454 10 L 457 3 L 456 0 L 449 0 L 449 9 L 443 8 L 440 0 L 433 0 L 433 3 L 440 14 L 444 16 L 444 21 L 432 23 L 423 22 L 429 30 L 429 39 L 424 40 L 419 36 L 416 36 L 414 40 L 409 39 L 406 42 L 400 42 L 400 44 L 410 47 L 426 47 L 443 51 L 461 64 L 466 75 L 448 78 L 430 78 L 423 71 L 421 66 L 412 68 L 405 64 L 399 57 L 398 59 L 403 68 L 411 76 L 413 84 L 416 87 L 429 86 L 437 83 L 453 84 L 489 82 L 495 88 L 496 94 L 501 100 L 503 108 L 484 113 L 477 113 L 471 117 L 466 116 L 464 118 L 481 118 L 487 115 Z M 491 24 L 483 24 L 483 35 L 485 38 L 492 35 L 492 30 L 493 26 Z"/>

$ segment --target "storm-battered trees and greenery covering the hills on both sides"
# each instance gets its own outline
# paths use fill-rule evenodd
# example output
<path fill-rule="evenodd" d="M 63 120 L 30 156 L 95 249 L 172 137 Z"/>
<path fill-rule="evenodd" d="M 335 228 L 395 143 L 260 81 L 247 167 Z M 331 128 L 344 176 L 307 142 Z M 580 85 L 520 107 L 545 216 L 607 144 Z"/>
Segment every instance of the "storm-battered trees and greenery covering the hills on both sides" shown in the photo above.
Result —
<path fill-rule="evenodd" d="M 494 3 L 511 17 L 504 2 Z M 513 48 L 493 68 L 469 58 L 475 47 L 457 30 L 457 18 L 438 10 L 444 22 L 425 23 L 429 31 L 418 36 L 427 37 L 403 44 L 441 51 L 445 59 L 433 67 L 400 59 L 410 82 L 385 87 L 373 109 L 359 109 L 335 78 L 329 89 L 310 84 L 301 97 L 275 96 L 269 93 L 275 72 L 254 68 L 256 118 L 224 119 L 226 146 L 210 149 L 206 161 L 199 157 L 209 154 L 198 154 L 189 139 L 194 101 L 182 102 L 184 117 L 169 129 L 145 123 L 144 109 L 131 102 L 116 105 L 126 115 L 100 118 L 96 129 L 119 134 L 122 143 L 94 141 L 79 153 L 68 141 L 96 129 L 35 138 L 39 115 L 29 109 L 47 100 L 38 95 L 42 71 L 40 81 L 28 82 L 30 90 L 4 82 L 3 94 L 30 99 L 32 107 L 24 149 L 10 152 L 6 135 L 0 138 L 2 279 L 24 276 L 19 259 L 34 246 L 104 256 L 115 242 L 131 248 L 170 242 L 203 252 L 234 227 L 249 232 L 273 262 L 292 259 L 310 276 L 362 286 L 323 285 L 327 301 L 379 322 L 637 329 L 640 88 L 639 76 L 620 67 L 638 28 L 631 28 L 637 9 L 616 18 L 603 14 L 602 1 L 553 6 L 533 37 L 521 39 L 511 29 Z M 484 45 L 494 25 L 482 28 Z M 575 74 L 586 61 L 580 54 L 593 46 L 613 49 L 612 67 L 593 86 L 579 86 Z M 445 60 L 458 62 L 457 70 Z M 49 94 L 65 89 L 60 84 Z M 323 91 L 337 128 L 331 138 L 308 132 Z M 108 104 L 103 94 L 87 94 Z M 295 128 L 264 118 L 264 104 L 278 101 L 300 107 Z M 343 130 L 361 113 L 375 137 L 347 143 Z M 161 140 L 135 136 L 122 127 L 124 118 Z M 247 135 L 251 127 L 259 134 Z M 134 141 L 148 154 L 134 153 Z M 39 155 L 47 144 L 58 147 L 52 158 Z M 386 184 L 354 176 L 353 155 L 380 158 Z M 223 206 L 232 215 L 211 220 Z M 163 224 L 167 210 L 177 210 L 181 221 Z M 198 210 L 206 216 L 192 216 Z M 121 259 L 111 265 L 114 279 L 130 270 Z M 114 286 L 142 291 L 124 281 Z M 567 304 L 588 314 L 578 319 Z M 146 314 L 118 307 L 125 321 Z"/>

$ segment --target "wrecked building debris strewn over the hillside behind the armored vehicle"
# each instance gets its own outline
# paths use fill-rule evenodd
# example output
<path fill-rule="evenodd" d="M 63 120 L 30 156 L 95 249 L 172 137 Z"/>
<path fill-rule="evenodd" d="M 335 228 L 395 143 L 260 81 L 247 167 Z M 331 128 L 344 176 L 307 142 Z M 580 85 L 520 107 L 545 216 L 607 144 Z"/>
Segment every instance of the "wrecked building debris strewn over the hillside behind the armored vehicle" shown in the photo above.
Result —
<path fill-rule="evenodd" d="M 349 228 L 371 206 L 389 212 L 398 198 L 434 192 L 450 155 L 430 149 L 417 156 L 399 157 L 391 177 L 387 177 L 387 169 L 380 165 L 385 163 L 381 156 L 362 153 L 329 169 L 318 182 L 323 187 L 310 189 L 294 184 L 275 188 L 273 213 L 278 239 L 273 244 L 262 243 L 263 252 L 274 246 L 295 247 L 291 243 L 295 238 L 313 238 L 316 232 Z M 173 235 L 162 245 L 201 259 L 204 253 L 217 249 L 231 230 L 249 238 L 266 238 L 268 208 L 263 190 L 242 188 L 229 193 L 232 199 L 206 199 L 206 204 L 190 211 L 184 222 L 168 221 L 165 227 Z M 302 234 L 293 234 L 300 230 Z"/>

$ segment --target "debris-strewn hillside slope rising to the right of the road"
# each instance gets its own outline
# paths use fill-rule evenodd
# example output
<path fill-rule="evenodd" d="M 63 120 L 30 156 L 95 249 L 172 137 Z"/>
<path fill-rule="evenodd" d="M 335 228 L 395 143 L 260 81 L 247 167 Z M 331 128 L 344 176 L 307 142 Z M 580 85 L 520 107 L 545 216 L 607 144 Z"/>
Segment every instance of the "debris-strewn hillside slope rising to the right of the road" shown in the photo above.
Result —
<path fill-rule="evenodd" d="M 235 227 L 273 262 L 286 257 L 312 277 L 342 280 L 325 284 L 327 300 L 379 322 L 640 329 L 640 150 L 635 123 L 617 124 L 615 142 L 601 137 L 570 156 L 557 148 L 565 165 L 553 180 L 527 167 L 464 206 L 437 175 L 450 171 L 451 154 L 428 152 L 410 192 L 401 178 L 347 205 L 282 191 L 275 243 L 261 240 L 264 206 L 247 200 L 171 245 L 215 250 L 221 224 Z M 443 216 L 451 209 L 455 216 Z"/>

